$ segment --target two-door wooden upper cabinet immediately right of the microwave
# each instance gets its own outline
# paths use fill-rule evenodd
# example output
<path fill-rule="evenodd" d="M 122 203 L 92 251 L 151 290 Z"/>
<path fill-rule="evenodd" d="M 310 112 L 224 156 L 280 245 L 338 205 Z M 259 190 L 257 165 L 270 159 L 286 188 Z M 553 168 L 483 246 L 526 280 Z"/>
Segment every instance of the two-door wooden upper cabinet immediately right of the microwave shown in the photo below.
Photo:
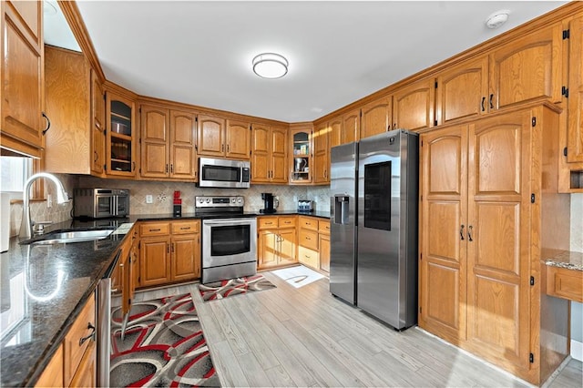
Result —
<path fill-rule="evenodd" d="M 287 183 L 287 128 L 262 124 L 251 128 L 251 183 Z"/>

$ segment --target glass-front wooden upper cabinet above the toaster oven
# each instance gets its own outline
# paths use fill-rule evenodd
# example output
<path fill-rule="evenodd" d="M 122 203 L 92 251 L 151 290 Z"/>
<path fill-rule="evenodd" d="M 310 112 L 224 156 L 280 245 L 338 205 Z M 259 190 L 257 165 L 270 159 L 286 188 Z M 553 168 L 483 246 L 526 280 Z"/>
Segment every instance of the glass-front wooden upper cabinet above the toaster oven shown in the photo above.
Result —
<path fill-rule="evenodd" d="M 106 90 L 106 173 L 114 177 L 136 177 L 138 128 L 136 104 L 113 90 Z"/>

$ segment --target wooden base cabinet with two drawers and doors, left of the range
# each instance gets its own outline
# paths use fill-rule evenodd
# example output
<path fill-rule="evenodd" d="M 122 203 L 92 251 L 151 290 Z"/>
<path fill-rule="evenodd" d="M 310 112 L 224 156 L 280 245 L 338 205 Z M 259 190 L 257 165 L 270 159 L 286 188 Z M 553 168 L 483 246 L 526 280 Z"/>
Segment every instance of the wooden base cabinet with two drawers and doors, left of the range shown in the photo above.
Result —
<path fill-rule="evenodd" d="M 200 221 L 145 222 L 140 225 L 140 286 L 200 277 Z"/>

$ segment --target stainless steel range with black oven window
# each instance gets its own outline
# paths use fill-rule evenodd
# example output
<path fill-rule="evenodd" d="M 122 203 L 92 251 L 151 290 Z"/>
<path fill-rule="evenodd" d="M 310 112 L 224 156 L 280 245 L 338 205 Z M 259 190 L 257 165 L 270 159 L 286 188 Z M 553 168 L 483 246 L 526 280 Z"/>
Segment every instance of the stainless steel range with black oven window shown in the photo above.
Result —
<path fill-rule="evenodd" d="M 257 219 L 243 215 L 245 199 L 195 197 L 202 216 L 202 282 L 257 273 Z"/>

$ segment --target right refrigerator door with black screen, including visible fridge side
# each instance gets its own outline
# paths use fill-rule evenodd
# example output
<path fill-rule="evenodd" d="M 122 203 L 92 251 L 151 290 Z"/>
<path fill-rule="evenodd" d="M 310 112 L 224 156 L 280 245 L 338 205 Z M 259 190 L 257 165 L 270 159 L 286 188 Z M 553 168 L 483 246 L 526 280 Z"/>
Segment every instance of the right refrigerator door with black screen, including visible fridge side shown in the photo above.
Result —
<path fill-rule="evenodd" d="M 417 322 L 418 139 L 396 129 L 359 144 L 358 306 L 395 329 Z"/>

